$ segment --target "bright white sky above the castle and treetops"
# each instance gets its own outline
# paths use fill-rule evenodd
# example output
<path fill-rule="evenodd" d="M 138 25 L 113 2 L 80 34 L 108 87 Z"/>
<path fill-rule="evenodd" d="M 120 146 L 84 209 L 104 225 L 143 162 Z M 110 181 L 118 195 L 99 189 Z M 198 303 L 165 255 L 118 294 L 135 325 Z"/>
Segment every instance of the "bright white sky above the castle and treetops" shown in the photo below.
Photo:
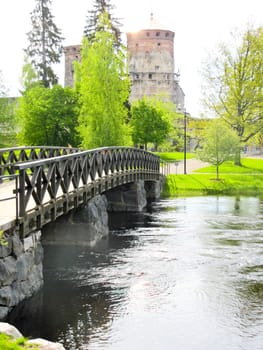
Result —
<path fill-rule="evenodd" d="M 30 12 L 35 3 L 8 0 L 0 5 L 0 71 L 12 96 L 18 95 L 20 88 L 23 49 L 28 46 L 26 33 L 31 29 Z M 207 52 L 227 41 L 235 29 L 263 25 L 262 0 L 112 0 L 112 4 L 124 33 L 146 29 L 151 13 L 175 32 L 175 72 L 180 72 L 186 110 L 196 117 L 202 113 L 200 73 Z M 52 0 L 54 22 L 62 30 L 64 46 L 81 42 L 91 9 L 92 0 Z M 64 58 L 55 70 L 63 85 Z"/>

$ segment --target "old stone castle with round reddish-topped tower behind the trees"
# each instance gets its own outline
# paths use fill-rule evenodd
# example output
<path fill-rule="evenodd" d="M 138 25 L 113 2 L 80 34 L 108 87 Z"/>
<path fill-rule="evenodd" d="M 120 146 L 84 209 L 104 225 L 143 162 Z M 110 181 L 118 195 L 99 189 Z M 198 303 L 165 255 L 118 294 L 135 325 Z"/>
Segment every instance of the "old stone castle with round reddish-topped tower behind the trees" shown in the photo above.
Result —
<path fill-rule="evenodd" d="M 183 109 L 184 93 L 179 85 L 179 75 L 174 73 L 174 32 L 151 15 L 147 29 L 126 35 L 130 101 L 159 95 Z M 73 86 L 73 61 L 80 60 L 80 45 L 65 47 L 64 54 L 65 86 Z"/>

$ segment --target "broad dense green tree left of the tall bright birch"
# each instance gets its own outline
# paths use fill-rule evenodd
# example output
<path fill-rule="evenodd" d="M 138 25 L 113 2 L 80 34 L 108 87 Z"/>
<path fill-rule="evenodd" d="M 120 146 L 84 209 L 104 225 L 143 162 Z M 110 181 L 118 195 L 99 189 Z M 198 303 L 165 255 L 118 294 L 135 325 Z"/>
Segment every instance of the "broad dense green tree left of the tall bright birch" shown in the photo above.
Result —
<path fill-rule="evenodd" d="M 70 87 L 34 86 L 20 99 L 17 120 L 19 141 L 27 145 L 78 146 L 78 99 Z"/>

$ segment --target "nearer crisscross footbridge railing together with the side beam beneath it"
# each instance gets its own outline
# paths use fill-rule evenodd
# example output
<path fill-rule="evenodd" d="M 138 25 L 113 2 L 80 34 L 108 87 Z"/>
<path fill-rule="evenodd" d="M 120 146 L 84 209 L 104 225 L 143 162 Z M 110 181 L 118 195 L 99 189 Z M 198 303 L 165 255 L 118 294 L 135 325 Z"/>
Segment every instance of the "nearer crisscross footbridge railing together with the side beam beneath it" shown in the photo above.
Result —
<path fill-rule="evenodd" d="M 14 170 L 18 174 L 17 221 L 23 235 L 23 227 L 36 216 L 38 223 L 32 227 L 39 228 L 50 217 L 54 220 L 95 194 L 138 179 L 162 177 L 159 156 L 127 147 L 103 147 L 17 163 Z"/>

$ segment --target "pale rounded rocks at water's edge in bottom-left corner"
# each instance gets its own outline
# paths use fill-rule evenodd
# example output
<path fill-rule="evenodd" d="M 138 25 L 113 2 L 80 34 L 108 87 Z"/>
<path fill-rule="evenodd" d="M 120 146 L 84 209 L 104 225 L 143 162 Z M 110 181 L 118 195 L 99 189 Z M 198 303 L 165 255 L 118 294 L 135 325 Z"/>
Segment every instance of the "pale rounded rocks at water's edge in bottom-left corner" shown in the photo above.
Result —
<path fill-rule="evenodd" d="M 23 337 L 17 328 L 6 322 L 0 322 L 0 334 L 1 333 L 8 335 L 12 339 Z M 32 347 L 34 346 L 38 350 L 65 350 L 62 344 L 53 343 L 42 338 L 27 340 L 25 344 Z"/>

